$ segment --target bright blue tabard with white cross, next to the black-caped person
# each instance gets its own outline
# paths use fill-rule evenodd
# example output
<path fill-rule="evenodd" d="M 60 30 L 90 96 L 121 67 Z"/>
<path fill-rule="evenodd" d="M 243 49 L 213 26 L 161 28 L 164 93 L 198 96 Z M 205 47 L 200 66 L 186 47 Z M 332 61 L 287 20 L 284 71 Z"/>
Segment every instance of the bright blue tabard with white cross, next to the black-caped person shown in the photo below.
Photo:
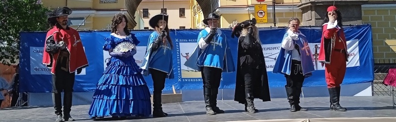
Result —
<path fill-rule="evenodd" d="M 217 29 L 217 35 L 213 37 L 210 44 L 205 44 L 203 38 L 209 32 L 209 27 L 199 32 L 197 39 L 198 45 L 184 65 L 198 71 L 200 71 L 201 66 L 207 66 L 221 68 L 223 72 L 234 72 L 234 60 L 225 34 L 220 29 Z"/>

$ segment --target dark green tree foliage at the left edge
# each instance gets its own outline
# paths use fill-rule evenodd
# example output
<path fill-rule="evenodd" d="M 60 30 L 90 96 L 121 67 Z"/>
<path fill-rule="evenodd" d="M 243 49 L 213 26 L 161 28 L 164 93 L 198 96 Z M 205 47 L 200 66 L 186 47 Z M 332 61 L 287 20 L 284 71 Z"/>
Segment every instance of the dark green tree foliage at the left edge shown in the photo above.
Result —
<path fill-rule="evenodd" d="M 47 30 L 49 11 L 41 0 L 0 0 L 0 63 L 19 60 L 19 32 Z"/>

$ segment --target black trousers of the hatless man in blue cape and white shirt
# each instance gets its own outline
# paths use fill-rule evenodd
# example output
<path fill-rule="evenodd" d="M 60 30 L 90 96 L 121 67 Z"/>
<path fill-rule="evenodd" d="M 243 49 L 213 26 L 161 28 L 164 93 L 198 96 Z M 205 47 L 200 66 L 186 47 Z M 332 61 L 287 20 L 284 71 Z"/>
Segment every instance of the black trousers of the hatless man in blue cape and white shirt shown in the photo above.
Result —
<path fill-rule="evenodd" d="M 302 83 L 304 82 L 304 75 L 302 74 L 301 61 L 292 60 L 292 67 L 290 75 L 286 77 L 286 93 L 290 105 L 298 104 L 300 100 Z"/>

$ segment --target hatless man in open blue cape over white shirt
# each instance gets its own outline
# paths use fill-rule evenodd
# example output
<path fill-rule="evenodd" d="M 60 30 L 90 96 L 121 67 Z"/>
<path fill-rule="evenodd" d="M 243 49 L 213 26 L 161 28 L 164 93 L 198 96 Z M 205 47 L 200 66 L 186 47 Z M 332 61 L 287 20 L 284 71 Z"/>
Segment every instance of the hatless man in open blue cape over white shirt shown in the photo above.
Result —
<path fill-rule="evenodd" d="M 282 48 L 272 71 L 286 77 L 285 88 L 291 112 L 307 111 L 298 105 L 299 97 L 304 79 L 312 76 L 315 70 L 308 41 L 298 30 L 299 25 L 297 18 L 289 20 L 289 29 L 283 37 Z"/>

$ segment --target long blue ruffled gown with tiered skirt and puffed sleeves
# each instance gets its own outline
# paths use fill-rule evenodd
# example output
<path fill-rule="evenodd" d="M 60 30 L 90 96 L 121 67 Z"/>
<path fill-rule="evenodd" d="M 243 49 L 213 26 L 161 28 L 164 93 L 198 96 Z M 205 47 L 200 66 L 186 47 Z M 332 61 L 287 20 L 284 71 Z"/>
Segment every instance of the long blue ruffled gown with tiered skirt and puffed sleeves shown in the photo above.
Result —
<path fill-rule="evenodd" d="M 125 39 L 110 35 L 104 40 L 105 51 L 114 49 L 121 42 L 140 43 L 134 34 Z M 133 55 L 136 54 L 136 50 L 133 52 Z M 151 114 L 151 95 L 141 74 L 143 69 L 139 68 L 133 55 L 127 58 L 111 57 L 93 96 L 89 110 L 91 118 L 148 117 Z"/>

